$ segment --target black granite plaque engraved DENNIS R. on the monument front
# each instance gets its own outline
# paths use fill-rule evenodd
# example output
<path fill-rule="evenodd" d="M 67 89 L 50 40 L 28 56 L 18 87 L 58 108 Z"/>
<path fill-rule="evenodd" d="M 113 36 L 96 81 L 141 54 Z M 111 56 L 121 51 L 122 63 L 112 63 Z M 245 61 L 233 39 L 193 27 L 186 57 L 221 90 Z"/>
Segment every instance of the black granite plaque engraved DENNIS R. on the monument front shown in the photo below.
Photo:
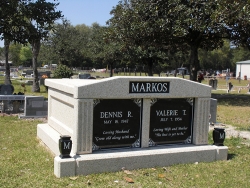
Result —
<path fill-rule="evenodd" d="M 141 99 L 94 101 L 93 150 L 140 147 Z"/>

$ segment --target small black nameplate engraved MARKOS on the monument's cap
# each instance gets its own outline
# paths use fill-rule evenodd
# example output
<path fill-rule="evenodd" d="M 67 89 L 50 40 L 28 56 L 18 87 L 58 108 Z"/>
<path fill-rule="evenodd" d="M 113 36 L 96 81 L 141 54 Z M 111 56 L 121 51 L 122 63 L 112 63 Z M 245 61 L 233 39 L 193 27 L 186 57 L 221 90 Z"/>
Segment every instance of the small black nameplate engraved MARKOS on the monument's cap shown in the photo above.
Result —
<path fill-rule="evenodd" d="M 130 82 L 129 93 L 169 93 L 169 82 Z"/>

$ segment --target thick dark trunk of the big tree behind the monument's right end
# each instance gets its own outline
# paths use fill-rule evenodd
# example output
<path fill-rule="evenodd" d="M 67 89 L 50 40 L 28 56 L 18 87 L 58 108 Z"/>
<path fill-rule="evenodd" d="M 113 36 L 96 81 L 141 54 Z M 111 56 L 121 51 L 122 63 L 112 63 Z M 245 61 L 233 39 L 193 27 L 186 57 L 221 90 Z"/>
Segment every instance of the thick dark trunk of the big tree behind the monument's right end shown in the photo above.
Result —
<path fill-rule="evenodd" d="M 200 69 L 200 62 L 198 59 L 198 46 L 192 45 L 190 52 L 190 80 L 197 81 L 197 72 Z"/>

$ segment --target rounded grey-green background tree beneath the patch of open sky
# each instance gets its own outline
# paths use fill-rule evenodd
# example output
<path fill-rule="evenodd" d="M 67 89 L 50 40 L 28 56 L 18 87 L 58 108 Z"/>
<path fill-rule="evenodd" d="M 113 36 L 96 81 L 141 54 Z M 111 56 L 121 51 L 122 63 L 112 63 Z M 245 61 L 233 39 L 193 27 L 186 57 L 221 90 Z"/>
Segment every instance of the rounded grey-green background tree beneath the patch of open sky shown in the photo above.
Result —
<path fill-rule="evenodd" d="M 63 20 L 62 24 L 55 24 L 49 39 L 44 42 L 50 51 L 48 55 L 64 65 L 78 66 L 86 59 L 89 32 L 86 26 L 73 27 L 67 20 Z"/>

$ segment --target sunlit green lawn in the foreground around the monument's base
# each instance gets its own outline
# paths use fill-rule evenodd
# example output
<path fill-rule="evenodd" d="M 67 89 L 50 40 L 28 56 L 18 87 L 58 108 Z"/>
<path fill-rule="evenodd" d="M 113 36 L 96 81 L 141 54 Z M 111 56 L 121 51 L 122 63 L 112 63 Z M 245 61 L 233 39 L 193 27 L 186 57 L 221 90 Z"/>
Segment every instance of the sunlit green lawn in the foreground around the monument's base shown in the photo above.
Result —
<path fill-rule="evenodd" d="M 229 160 L 56 178 L 54 156 L 36 138 L 41 120 L 0 117 L 0 187 L 249 187 L 249 145 L 225 140 Z M 212 144 L 211 133 L 209 143 Z M 131 178 L 134 183 L 128 183 Z"/>

